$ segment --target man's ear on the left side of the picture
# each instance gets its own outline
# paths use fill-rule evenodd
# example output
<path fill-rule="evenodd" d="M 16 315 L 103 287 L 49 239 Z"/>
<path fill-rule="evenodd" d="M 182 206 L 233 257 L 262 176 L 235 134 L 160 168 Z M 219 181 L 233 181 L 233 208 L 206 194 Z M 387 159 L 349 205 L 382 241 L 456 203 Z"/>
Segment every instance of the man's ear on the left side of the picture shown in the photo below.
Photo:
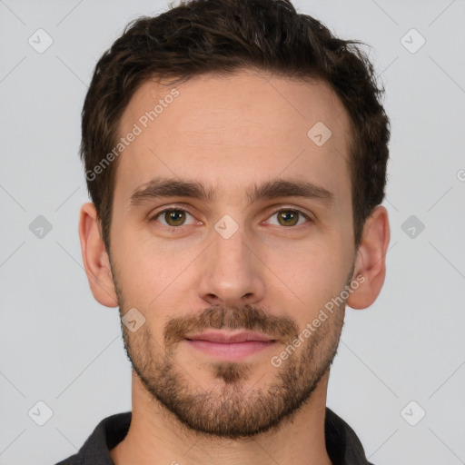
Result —
<path fill-rule="evenodd" d="M 100 233 L 100 220 L 94 203 L 84 203 L 81 207 L 79 239 L 85 273 L 95 300 L 105 307 L 117 307 L 110 260 Z"/>

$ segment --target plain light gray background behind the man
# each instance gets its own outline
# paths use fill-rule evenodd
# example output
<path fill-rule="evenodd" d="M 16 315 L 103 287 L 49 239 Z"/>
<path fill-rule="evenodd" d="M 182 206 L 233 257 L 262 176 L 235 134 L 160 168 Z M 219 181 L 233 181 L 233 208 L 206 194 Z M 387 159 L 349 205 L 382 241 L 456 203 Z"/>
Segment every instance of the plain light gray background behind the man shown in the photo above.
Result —
<path fill-rule="evenodd" d="M 370 309 L 347 310 L 328 406 L 377 465 L 465 463 L 465 3 L 294 5 L 372 45 L 392 124 L 387 278 Z M 124 25 L 166 6 L 0 0 L 1 465 L 62 460 L 131 409 L 117 309 L 94 301 L 82 266 L 80 111 Z M 42 54 L 28 43 L 39 28 L 54 41 Z M 42 238 L 29 227 L 39 215 L 52 225 Z M 38 401 L 53 411 L 44 426 Z"/>

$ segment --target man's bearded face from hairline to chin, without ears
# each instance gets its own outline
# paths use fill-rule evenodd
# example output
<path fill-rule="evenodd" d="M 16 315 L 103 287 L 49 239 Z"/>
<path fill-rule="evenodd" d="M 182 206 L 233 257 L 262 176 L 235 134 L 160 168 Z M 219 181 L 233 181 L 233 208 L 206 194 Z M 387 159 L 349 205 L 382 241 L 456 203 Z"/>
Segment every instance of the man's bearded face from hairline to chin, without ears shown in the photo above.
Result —
<path fill-rule="evenodd" d="M 235 74 L 176 89 L 163 100 L 172 89 L 146 82 L 120 125 L 141 129 L 120 155 L 110 232 L 122 315 L 145 318 L 123 326 L 125 349 L 184 426 L 251 436 L 310 398 L 338 346 L 344 304 L 312 322 L 352 278 L 349 120 L 323 83 Z M 212 195 L 140 193 L 154 178 Z M 277 182 L 289 183 L 261 188 Z"/>

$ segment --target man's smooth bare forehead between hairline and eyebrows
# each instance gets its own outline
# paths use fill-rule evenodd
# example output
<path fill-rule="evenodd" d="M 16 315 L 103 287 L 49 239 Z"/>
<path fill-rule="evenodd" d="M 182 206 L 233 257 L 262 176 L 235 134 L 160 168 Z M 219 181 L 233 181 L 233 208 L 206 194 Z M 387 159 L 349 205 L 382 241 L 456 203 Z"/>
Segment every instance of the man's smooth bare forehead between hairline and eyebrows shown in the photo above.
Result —
<path fill-rule="evenodd" d="M 247 72 L 174 87 L 147 81 L 120 121 L 120 137 L 130 133 L 137 135 L 119 158 L 115 203 L 158 176 L 215 185 L 224 195 L 281 175 L 336 196 L 350 191 L 349 118 L 322 81 Z"/>

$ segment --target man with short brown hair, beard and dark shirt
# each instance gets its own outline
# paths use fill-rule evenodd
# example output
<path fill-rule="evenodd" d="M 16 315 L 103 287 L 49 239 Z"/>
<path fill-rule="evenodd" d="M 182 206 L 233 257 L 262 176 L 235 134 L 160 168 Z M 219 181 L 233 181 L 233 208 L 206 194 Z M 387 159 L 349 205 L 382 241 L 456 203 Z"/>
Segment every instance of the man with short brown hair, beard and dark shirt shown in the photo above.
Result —
<path fill-rule="evenodd" d="M 345 306 L 390 240 L 371 63 L 286 0 L 193 0 L 96 65 L 79 234 L 118 306 L 132 412 L 66 464 L 368 464 L 326 408 Z"/>

